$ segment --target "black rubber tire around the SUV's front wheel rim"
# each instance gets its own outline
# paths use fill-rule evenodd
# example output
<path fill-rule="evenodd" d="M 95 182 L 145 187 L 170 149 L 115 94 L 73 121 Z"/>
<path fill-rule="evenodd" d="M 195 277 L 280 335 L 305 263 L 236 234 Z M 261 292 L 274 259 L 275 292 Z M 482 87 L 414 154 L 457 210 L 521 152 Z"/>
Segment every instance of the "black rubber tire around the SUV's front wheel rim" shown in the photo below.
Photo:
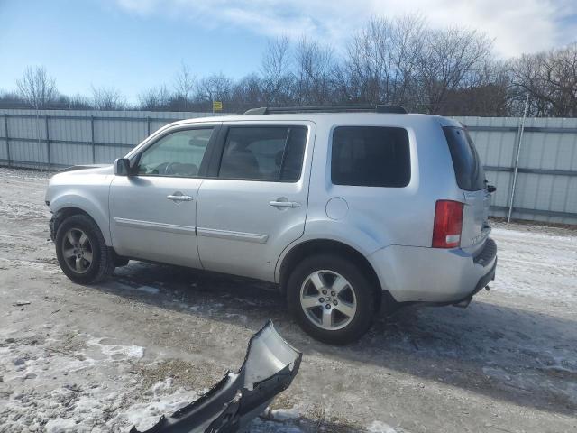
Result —
<path fill-rule="evenodd" d="M 72 265 L 69 263 L 75 260 L 74 257 L 69 258 L 68 263 L 64 257 L 63 244 L 69 242 L 65 241 L 65 236 L 68 235 L 70 230 L 79 230 L 87 235 L 92 260 L 90 264 L 87 265 L 85 272 L 75 272 L 75 270 L 72 269 Z M 55 244 L 60 269 L 74 282 L 78 282 L 79 284 L 94 284 L 104 280 L 114 272 L 113 254 L 106 246 L 105 238 L 100 232 L 100 228 L 98 228 L 92 218 L 86 215 L 73 215 L 62 221 L 56 232 Z"/>

